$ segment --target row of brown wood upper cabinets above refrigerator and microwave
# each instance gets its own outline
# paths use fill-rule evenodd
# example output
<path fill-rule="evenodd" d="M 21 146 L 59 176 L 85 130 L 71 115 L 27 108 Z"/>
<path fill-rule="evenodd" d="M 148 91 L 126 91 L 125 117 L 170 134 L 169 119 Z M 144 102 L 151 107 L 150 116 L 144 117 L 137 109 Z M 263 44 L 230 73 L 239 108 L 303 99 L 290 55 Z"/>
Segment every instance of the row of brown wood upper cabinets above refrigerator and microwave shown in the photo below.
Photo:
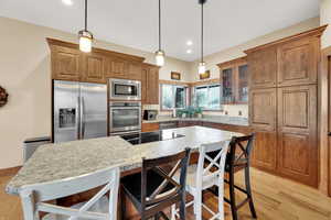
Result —
<path fill-rule="evenodd" d="M 141 80 L 143 57 L 102 48 L 90 53 L 77 44 L 47 38 L 52 53 L 52 78 L 106 84 L 107 78 Z"/>

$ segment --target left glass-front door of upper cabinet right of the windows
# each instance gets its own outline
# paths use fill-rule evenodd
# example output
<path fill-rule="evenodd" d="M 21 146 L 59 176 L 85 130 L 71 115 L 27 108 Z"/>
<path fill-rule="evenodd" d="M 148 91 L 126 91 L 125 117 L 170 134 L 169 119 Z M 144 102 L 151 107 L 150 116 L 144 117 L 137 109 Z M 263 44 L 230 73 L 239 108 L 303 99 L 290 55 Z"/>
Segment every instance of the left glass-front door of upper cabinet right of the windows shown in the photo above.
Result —
<path fill-rule="evenodd" d="M 221 102 L 233 103 L 234 101 L 234 88 L 233 88 L 233 68 L 226 68 L 221 72 L 221 80 L 222 80 L 222 92 L 221 92 Z"/>

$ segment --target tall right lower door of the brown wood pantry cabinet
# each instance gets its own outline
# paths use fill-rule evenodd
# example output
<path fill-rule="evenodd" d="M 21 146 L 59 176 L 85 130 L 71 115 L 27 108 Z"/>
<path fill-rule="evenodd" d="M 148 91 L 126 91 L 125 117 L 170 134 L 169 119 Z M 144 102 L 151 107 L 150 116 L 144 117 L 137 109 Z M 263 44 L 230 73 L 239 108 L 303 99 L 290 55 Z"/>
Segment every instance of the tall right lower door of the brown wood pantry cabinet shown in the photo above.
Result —
<path fill-rule="evenodd" d="M 317 86 L 278 89 L 278 172 L 318 186 Z"/>

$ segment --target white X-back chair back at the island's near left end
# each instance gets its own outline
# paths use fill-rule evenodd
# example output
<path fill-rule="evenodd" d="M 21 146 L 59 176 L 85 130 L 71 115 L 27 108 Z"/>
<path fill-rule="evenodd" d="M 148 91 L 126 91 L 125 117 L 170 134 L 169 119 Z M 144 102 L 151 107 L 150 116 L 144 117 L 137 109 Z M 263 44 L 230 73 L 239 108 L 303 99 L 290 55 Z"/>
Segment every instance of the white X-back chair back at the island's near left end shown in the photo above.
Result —
<path fill-rule="evenodd" d="M 92 199 L 81 208 L 66 208 L 44 201 L 79 194 L 96 187 L 104 186 Z M 119 168 L 107 168 L 93 174 L 78 177 L 49 182 L 44 184 L 29 185 L 20 190 L 23 206 L 24 220 L 39 220 L 39 212 L 47 212 L 65 216 L 68 219 L 103 219 L 116 220 L 117 197 L 119 187 Z M 89 211 L 89 209 L 109 191 L 108 213 Z"/>

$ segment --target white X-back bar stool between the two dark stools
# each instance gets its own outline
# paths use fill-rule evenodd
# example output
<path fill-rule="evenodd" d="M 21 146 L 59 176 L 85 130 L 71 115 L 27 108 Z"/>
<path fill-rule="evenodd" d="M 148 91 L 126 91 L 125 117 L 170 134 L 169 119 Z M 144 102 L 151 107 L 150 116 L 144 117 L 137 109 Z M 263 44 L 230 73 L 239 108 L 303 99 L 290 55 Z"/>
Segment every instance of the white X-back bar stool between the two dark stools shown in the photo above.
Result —
<path fill-rule="evenodd" d="M 212 213 L 211 219 L 224 219 L 224 167 L 228 142 L 201 145 L 199 148 L 197 165 L 188 167 L 186 191 L 194 196 L 194 200 L 186 204 L 186 207 L 194 205 L 196 220 L 202 220 L 202 208 Z M 211 157 L 210 155 L 213 154 Z M 179 179 L 179 175 L 175 175 Z M 202 202 L 202 191 L 213 186 L 218 188 L 218 211 L 215 213 Z M 171 209 L 172 220 L 175 220 L 178 210 L 175 205 Z"/>

